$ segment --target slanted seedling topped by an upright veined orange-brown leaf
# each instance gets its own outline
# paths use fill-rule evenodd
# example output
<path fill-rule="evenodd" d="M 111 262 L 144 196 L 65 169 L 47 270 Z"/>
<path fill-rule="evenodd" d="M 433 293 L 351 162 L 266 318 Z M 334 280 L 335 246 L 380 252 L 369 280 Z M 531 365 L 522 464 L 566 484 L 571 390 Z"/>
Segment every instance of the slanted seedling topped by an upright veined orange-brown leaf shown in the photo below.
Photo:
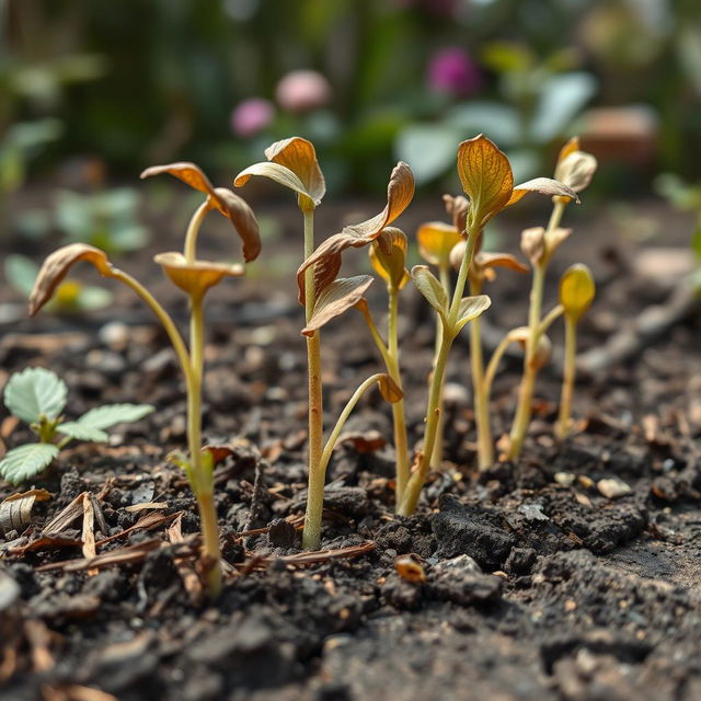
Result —
<path fill-rule="evenodd" d="M 467 238 L 467 244 L 452 298 L 448 298 L 443 285 L 428 267 L 416 265 L 412 268 L 412 280 L 428 303 L 438 312 L 443 323 L 436 366 L 428 394 L 424 445 L 415 457 L 412 476 L 399 508 L 399 513 L 404 516 L 414 513 L 430 467 L 430 458 L 438 435 L 439 403 L 446 364 L 452 342 L 469 321 L 479 317 L 491 304 L 486 295 L 462 297 L 485 225 L 502 209 L 518 202 L 529 192 L 576 198 L 570 187 L 547 177 L 538 177 L 514 186 L 514 175 L 508 159 L 490 139 L 482 135 L 460 145 L 458 174 L 469 197 L 469 206 L 464 218 L 461 216 L 461 220 L 458 222 L 458 229 L 462 232 L 462 237 Z"/>

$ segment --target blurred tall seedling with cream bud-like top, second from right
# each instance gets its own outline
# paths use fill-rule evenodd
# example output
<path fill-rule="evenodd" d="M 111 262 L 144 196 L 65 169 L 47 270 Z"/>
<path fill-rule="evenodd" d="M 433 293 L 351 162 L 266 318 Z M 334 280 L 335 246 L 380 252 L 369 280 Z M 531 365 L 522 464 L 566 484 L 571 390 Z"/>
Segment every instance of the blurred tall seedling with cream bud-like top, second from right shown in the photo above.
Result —
<path fill-rule="evenodd" d="M 570 229 L 560 228 L 560 221 L 567 204 L 573 200 L 579 202 L 575 193 L 582 192 L 591 182 L 596 166 L 596 159 L 589 153 L 579 150 L 579 139 L 576 137 L 570 139 L 558 157 L 555 179 L 564 184 L 572 195 L 553 196 L 553 210 L 548 228 L 527 229 L 521 235 L 521 250 L 531 263 L 533 278 L 528 310 L 529 335 L 524 356 L 524 376 L 519 387 L 518 405 L 509 434 L 509 447 L 506 456 L 509 460 L 515 460 L 520 455 L 526 432 L 530 424 L 533 389 L 538 374 L 535 358 L 538 348 L 539 327 L 542 321 L 541 310 L 545 272 L 552 255 L 571 233 Z"/>

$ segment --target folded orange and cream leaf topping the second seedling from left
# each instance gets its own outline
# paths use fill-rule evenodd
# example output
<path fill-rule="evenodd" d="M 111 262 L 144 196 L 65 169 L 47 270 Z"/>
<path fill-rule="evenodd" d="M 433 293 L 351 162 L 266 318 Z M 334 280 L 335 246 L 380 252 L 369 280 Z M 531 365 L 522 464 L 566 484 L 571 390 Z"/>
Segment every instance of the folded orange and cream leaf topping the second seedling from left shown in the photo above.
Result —
<path fill-rule="evenodd" d="M 296 192 L 302 210 L 314 209 L 321 204 L 326 184 L 311 141 L 298 136 L 276 141 L 265 149 L 265 157 L 267 162 L 244 169 L 235 176 L 233 184 L 241 187 L 251 176 L 262 175 Z"/>

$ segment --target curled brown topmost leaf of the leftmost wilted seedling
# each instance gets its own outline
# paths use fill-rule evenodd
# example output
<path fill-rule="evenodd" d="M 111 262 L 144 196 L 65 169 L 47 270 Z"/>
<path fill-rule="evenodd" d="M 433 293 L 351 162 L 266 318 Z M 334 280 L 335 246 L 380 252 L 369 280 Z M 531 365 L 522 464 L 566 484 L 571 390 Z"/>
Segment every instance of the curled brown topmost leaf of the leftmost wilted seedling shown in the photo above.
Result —
<path fill-rule="evenodd" d="M 192 188 L 208 196 L 207 202 L 231 221 L 233 228 L 243 241 L 243 257 L 246 263 L 255 260 L 261 253 L 261 237 L 255 215 L 248 203 L 227 187 L 215 187 L 203 173 L 199 165 L 188 161 L 152 165 L 141 173 L 141 179 L 168 173 L 177 177 Z"/>

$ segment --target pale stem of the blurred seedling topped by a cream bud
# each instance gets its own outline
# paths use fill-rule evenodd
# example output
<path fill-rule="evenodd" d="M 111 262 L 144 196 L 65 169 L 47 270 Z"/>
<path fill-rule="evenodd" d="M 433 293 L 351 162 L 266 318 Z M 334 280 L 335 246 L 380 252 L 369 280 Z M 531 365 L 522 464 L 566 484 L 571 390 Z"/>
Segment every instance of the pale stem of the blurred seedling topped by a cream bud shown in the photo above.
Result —
<path fill-rule="evenodd" d="M 552 215 L 550 216 L 550 221 L 548 222 L 545 240 L 549 238 L 548 234 L 551 231 L 554 231 L 560 225 L 565 205 L 563 203 L 555 203 Z M 518 406 L 514 417 L 514 425 L 512 426 L 509 435 L 509 448 L 507 452 L 507 458 L 509 460 L 516 460 L 520 455 L 524 440 L 526 438 L 526 432 L 530 424 L 533 389 L 536 387 L 536 376 L 538 374 L 538 368 L 536 367 L 536 353 L 538 348 L 547 267 L 547 258 L 543 258 L 533 267 L 533 281 L 530 290 L 530 306 L 528 310 L 528 341 L 526 343 L 526 356 L 524 358 L 524 377 L 519 388 Z"/>

